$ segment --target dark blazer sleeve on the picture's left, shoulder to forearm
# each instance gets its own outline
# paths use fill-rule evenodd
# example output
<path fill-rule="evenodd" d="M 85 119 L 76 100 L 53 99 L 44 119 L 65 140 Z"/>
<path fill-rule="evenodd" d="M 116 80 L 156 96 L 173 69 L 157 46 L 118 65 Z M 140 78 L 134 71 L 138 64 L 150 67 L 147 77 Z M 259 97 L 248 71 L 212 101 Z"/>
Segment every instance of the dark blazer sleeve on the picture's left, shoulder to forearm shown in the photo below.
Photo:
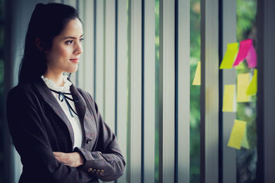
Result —
<path fill-rule="evenodd" d="M 91 182 L 91 177 L 83 169 L 69 167 L 56 160 L 47 137 L 42 110 L 35 96 L 28 90 L 10 90 L 7 98 L 7 118 L 15 148 L 21 156 L 25 169 L 36 177 L 52 182 Z M 50 177 L 49 177 L 50 176 Z"/>

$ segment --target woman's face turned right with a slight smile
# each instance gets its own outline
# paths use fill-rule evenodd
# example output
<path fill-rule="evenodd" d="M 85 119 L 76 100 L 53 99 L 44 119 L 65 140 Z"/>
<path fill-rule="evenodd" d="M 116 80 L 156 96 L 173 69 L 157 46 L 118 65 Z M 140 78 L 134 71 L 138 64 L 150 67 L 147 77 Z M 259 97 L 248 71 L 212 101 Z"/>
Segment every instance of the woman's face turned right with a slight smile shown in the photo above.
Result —
<path fill-rule="evenodd" d="M 82 49 L 83 27 L 78 19 L 67 23 L 61 34 L 54 37 L 52 48 L 46 51 L 47 71 L 52 73 L 74 73 Z"/>

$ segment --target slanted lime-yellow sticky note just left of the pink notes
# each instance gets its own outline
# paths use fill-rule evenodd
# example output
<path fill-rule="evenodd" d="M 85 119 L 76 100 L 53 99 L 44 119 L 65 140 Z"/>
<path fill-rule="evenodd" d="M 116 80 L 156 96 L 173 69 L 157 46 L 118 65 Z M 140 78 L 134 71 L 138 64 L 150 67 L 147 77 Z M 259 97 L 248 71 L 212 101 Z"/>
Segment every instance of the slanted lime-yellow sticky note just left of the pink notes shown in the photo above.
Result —
<path fill-rule="evenodd" d="M 228 44 L 228 49 L 226 49 L 225 51 L 225 55 L 223 57 L 223 60 L 221 61 L 221 66 L 219 67 L 219 69 L 232 69 L 236 53 L 238 53 L 239 50 L 238 46 L 238 42 Z"/>

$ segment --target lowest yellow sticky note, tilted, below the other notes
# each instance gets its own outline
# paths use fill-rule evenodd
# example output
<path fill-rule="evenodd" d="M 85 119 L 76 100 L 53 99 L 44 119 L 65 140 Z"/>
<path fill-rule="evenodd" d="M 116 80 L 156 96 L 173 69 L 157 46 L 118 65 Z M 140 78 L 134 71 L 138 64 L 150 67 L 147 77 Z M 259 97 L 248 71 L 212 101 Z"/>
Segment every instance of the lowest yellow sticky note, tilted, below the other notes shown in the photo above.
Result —
<path fill-rule="evenodd" d="M 243 142 L 243 137 L 245 136 L 245 129 L 246 122 L 235 119 L 228 141 L 228 147 L 241 149 L 241 143 Z"/>

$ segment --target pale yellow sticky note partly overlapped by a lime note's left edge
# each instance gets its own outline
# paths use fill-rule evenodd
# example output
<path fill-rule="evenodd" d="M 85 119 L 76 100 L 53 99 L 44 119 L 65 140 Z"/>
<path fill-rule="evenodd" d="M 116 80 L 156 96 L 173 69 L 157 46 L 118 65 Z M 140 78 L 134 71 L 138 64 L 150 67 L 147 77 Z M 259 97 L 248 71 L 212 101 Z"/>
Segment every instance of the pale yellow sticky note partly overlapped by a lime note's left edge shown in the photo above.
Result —
<path fill-rule="evenodd" d="M 250 101 L 250 96 L 246 94 L 249 83 L 250 83 L 249 73 L 241 73 L 238 75 L 237 81 L 236 81 L 236 101 L 237 102 Z"/>

